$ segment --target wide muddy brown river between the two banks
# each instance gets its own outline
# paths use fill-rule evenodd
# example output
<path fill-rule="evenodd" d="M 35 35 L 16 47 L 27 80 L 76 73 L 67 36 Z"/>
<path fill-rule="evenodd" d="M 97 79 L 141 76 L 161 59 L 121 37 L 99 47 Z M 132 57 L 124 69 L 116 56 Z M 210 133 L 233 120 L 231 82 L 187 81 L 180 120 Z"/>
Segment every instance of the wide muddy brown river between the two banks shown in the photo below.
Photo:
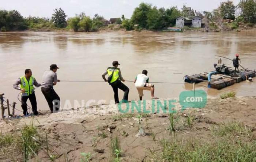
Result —
<path fill-rule="evenodd" d="M 113 60 L 118 60 L 125 80 L 133 81 L 137 74 L 147 69 L 150 82 L 179 83 L 155 84 L 155 96 L 178 98 L 182 91 L 192 90 L 191 84 L 184 84 L 184 75 L 212 71 L 219 59 L 214 55 L 233 59 L 235 53 L 240 53 L 242 66 L 256 69 L 256 32 L 0 32 L 0 93 L 5 93 L 4 97 L 10 102 L 17 102 L 21 110 L 17 99 L 19 91 L 12 88 L 12 84 L 24 75 L 26 68 L 32 70 L 39 83 L 50 64 L 60 67 L 57 71 L 60 80 L 102 80 L 101 74 L 112 66 Z M 222 60 L 233 67 L 230 60 Z M 130 88 L 129 100 L 138 100 L 134 83 L 124 83 Z M 105 82 L 59 82 L 54 89 L 61 98 L 61 107 L 113 100 L 112 87 Z M 222 90 L 206 85 L 197 85 L 196 89 L 205 90 L 208 97 L 218 97 L 226 91 L 236 91 L 238 96 L 256 96 L 256 79 Z M 41 88 L 37 88 L 35 94 L 38 109 L 48 110 Z M 144 94 L 143 99 L 150 99 L 149 92 Z M 123 92 L 119 90 L 119 99 L 122 97 Z M 27 103 L 30 105 L 29 101 Z"/>

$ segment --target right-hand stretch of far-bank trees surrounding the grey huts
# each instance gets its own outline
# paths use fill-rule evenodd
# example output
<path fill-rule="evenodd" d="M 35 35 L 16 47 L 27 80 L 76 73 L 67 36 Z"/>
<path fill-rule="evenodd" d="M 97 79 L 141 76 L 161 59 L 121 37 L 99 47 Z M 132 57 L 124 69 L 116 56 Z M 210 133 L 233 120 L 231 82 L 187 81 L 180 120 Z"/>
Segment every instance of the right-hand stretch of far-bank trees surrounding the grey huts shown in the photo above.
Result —
<path fill-rule="evenodd" d="M 234 20 L 236 18 L 236 11 L 239 11 L 237 13 L 239 15 L 237 17 L 237 23 L 256 23 L 256 0 L 241 0 L 237 6 L 233 4 L 233 1 L 228 0 L 222 2 L 218 8 L 211 12 L 198 12 L 188 8 L 186 5 L 183 5 L 181 10 L 178 10 L 177 7 L 158 9 L 156 6 L 152 7 L 151 4 L 141 3 L 133 11 L 131 19 L 125 19 L 122 16 L 122 26 L 127 30 L 162 30 L 166 27 L 175 26 L 176 18 L 179 16 L 185 18 L 199 16 L 201 18 L 207 18 L 212 25 L 216 25 L 215 22 L 225 19 Z"/>

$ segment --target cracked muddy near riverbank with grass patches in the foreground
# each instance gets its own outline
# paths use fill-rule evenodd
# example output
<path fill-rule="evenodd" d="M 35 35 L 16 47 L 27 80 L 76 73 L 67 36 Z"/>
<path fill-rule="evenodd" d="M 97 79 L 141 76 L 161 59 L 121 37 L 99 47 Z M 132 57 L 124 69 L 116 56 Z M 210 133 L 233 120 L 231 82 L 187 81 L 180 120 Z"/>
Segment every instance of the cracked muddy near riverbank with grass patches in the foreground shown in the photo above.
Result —
<path fill-rule="evenodd" d="M 151 102 L 146 101 L 147 110 L 152 108 Z M 33 123 L 33 127 L 38 130 L 34 136 L 35 142 L 45 139 L 43 137 L 47 134 L 47 149 L 41 141 L 37 155 L 33 154 L 33 161 L 51 159 L 56 162 L 79 162 L 86 157 L 91 161 L 102 162 L 113 159 L 186 161 L 193 158 L 196 158 L 193 161 L 203 158 L 207 161 L 215 158 L 223 161 L 232 158 L 253 161 L 256 155 L 255 103 L 256 97 L 208 99 L 205 108 L 186 109 L 183 112 L 180 111 L 180 104 L 174 103 L 173 109 L 177 113 L 171 116 L 161 111 L 155 114 L 140 113 L 140 125 L 146 133 L 143 137 L 136 137 L 140 120 L 138 112 L 135 110 L 135 113 L 122 114 L 115 104 L 53 114 L 42 112 L 42 115 L 34 118 L 1 121 L 1 137 L 6 133 L 19 136 L 25 124 Z M 122 109 L 126 106 L 123 104 Z M 38 136 L 42 137 L 41 140 Z M 118 141 L 120 147 L 113 153 Z M 1 145 L 1 160 L 20 161 L 22 154 L 16 147 L 18 145 L 12 145 L 11 148 Z M 217 155 L 218 150 L 222 153 Z"/>

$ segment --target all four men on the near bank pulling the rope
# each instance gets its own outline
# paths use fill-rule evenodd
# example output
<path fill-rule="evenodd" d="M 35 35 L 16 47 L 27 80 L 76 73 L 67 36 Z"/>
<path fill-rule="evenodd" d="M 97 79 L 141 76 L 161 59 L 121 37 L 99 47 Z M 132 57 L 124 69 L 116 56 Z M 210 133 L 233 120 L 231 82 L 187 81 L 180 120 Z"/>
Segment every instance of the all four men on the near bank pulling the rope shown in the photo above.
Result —
<path fill-rule="evenodd" d="M 109 82 L 109 84 L 112 86 L 114 91 L 114 100 L 115 103 L 119 103 L 118 98 L 118 88 L 124 91 L 124 97 L 121 101 L 122 103 L 128 102 L 128 94 L 129 94 L 129 88 L 125 86 L 124 78 L 121 75 L 120 68 L 117 68 L 118 61 L 113 61 L 112 63 L 113 67 L 107 68 L 107 70 L 102 74 L 102 78 L 105 80 L 105 82 Z M 23 109 L 23 114 L 27 116 L 29 113 L 27 112 L 27 99 L 30 100 L 31 106 L 32 106 L 32 114 L 38 115 L 37 111 L 37 101 L 35 97 L 35 87 L 41 86 L 41 91 L 44 94 L 44 97 L 49 105 L 51 113 L 58 111 L 60 106 L 60 97 L 59 95 L 54 91 L 53 86 L 57 84 L 57 82 L 60 82 L 60 80 L 57 79 L 57 67 L 56 64 L 50 65 L 50 69 L 46 70 L 44 72 L 43 78 L 42 78 L 42 84 L 38 83 L 34 76 L 32 76 L 31 69 L 25 70 L 25 76 L 21 76 L 16 80 L 16 82 L 13 84 L 13 87 L 17 90 L 21 91 L 22 97 L 21 97 L 21 107 Z M 105 78 L 106 75 L 109 75 L 108 80 Z M 138 74 L 134 80 L 135 87 L 138 90 L 139 98 L 142 100 L 143 97 L 143 90 L 151 91 L 151 99 L 158 99 L 154 96 L 155 87 L 153 84 L 148 83 L 148 76 L 147 76 L 147 70 L 143 70 L 142 74 Z M 54 107 L 53 107 L 54 105 Z"/>

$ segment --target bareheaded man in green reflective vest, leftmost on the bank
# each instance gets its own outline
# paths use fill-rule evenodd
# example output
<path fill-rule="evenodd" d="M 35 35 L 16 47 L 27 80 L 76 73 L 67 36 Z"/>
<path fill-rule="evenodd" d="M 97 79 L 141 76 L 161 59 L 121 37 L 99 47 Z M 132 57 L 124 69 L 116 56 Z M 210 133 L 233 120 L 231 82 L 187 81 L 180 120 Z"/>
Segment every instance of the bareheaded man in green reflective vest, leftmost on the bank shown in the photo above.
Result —
<path fill-rule="evenodd" d="M 20 85 L 20 86 L 18 86 Z M 21 97 L 21 107 L 23 109 L 23 114 L 26 116 L 27 113 L 27 99 L 29 99 L 32 106 L 32 113 L 34 115 L 38 115 L 37 112 L 37 100 L 35 98 L 34 85 L 36 87 L 41 86 L 36 80 L 35 77 L 32 76 L 32 71 L 30 69 L 25 70 L 25 76 L 21 76 L 16 82 L 13 84 L 13 87 L 16 90 L 20 90 L 22 92 Z"/>

